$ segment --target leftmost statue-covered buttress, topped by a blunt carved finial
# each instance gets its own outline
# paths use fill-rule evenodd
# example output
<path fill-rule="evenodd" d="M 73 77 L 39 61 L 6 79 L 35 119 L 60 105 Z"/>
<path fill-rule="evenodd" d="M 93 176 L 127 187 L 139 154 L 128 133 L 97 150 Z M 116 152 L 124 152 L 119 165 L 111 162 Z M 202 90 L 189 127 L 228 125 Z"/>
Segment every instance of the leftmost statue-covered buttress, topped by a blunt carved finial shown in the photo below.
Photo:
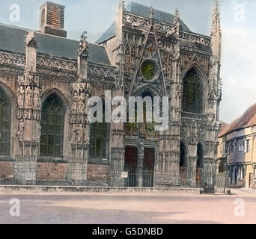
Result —
<path fill-rule="evenodd" d="M 15 179 L 18 184 L 36 184 L 36 165 L 40 157 L 41 81 L 37 75 L 37 42 L 34 31 L 25 39 L 25 71 L 18 78 L 19 155 L 16 155 Z"/>

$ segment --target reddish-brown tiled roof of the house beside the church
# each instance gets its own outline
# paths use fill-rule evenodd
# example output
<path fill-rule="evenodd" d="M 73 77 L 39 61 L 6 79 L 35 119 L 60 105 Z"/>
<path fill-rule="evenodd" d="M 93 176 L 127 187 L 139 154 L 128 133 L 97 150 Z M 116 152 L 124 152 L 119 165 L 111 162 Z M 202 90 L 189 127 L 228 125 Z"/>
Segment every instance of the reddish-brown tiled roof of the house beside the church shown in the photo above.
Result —
<path fill-rule="evenodd" d="M 256 104 L 249 107 L 240 118 L 234 120 L 230 125 L 228 125 L 228 127 L 224 128 L 219 133 L 219 137 L 223 137 L 233 131 L 241 128 L 247 128 L 252 125 L 256 125 Z"/>

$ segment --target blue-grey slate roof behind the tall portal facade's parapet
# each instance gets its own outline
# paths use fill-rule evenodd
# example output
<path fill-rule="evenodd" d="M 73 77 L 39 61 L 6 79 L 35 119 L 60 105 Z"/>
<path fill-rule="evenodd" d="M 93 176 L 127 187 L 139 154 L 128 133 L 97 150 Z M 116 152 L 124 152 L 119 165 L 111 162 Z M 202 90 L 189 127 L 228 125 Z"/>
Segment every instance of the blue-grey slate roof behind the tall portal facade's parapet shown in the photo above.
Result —
<path fill-rule="evenodd" d="M 142 4 L 138 4 L 135 2 L 130 2 L 126 9 L 127 12 L 138 15 L 138 16 L 143 16 L 146 18 L 150 17 L 150 7 L 144 6 Z M 153 13 L 154 13 L 154 19 L 158 22 L 164 22 L 168 24 L 173 24 L 174 23 L 174 15 L 171 13 L 165 13 L 161 10 L 157 10 L 153 8 Z M 180 19 L 180 30 L 182 31 L 190 31 L 189 28 L 186 26 L 186 24 Z M 99 40 L 97 40 L 97 44 L 103 43 L 106 40 L 111 39 L 112 37 L 115 37 L 115 22 L 112 23 L 112 25 L 109 27 L 109 29 L 100 37 Z"/>

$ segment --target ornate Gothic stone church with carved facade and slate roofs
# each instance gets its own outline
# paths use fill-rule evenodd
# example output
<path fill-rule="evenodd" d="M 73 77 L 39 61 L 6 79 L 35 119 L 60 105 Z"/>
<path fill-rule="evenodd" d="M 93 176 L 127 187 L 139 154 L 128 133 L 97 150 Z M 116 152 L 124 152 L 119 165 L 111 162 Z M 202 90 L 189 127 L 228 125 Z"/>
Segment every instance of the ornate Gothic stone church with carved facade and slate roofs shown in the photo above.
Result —
<path fill-rule="evenodd" d="M 49 1 L 39 31 L 0 24 L 0 183 L 214 184 L 221 38 L 218 1 L 210 36 L 178 10 L 124 1 L 97 43 L 67 39 L 64 6 Z M 168 96 L 169 127 L 90 123 L 91 96 Z"/>

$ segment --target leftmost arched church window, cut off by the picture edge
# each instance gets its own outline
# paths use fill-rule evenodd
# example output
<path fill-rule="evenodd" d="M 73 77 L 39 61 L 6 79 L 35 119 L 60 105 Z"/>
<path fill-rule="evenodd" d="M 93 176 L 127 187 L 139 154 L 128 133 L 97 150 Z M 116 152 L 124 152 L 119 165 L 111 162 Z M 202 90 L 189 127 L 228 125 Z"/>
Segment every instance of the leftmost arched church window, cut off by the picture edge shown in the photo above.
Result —
<path fill-rule="evenodd" d="M 0 154 L 10 153 L 10 104 L 0 88 Z"/>

